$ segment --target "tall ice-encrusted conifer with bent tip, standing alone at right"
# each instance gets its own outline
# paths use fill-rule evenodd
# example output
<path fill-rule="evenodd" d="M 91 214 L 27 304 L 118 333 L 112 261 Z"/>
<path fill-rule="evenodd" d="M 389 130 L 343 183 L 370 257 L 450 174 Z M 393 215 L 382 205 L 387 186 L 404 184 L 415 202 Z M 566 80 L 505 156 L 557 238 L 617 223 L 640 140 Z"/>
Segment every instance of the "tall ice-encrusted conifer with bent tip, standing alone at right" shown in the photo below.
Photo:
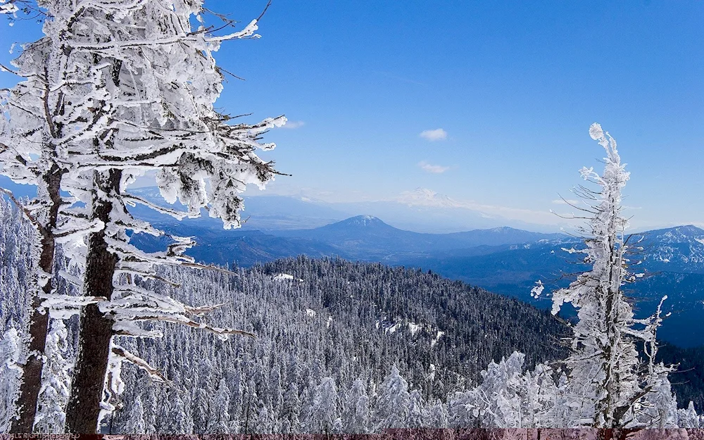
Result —
<path fill-rule="evenodd" d="M 570 370 L 570 395 L 579 396 L 579 402 L 570 403 L 574 409 L 570 420 L 598 428 L 639 427 L 638 408 L 670 369 L 655 365 L 653 360 L 659 311 L 646 320 L 636 320 L 623 291 L 624 284 L 639 277 L 627 268 L 627 254 L 633 245 L 629 243 L 632 236 L 625 234 L 627 219 L 621 214 L 621 191 L 629 172 L 621 163 L 615 139 L 601 125 L 592 124 L 589 135 L 606 151 L 602 175 L 593 168 L 580 171 L 598 190 L 574 190 L 588 206 L 575 208 L 589 215 L 582 228 L 586 248 L 576 252 L 585 254 L 584 262 L 592 269 L 553 293 L 553 314 L 569 302 L 577 308 L 579 318 L 572 327 L 572 354 L 565 361 Z M 534 294 L 540 291 L 539 284 Z M 651 348 L 648 367 L 639 360 L 637 340 Z"/>

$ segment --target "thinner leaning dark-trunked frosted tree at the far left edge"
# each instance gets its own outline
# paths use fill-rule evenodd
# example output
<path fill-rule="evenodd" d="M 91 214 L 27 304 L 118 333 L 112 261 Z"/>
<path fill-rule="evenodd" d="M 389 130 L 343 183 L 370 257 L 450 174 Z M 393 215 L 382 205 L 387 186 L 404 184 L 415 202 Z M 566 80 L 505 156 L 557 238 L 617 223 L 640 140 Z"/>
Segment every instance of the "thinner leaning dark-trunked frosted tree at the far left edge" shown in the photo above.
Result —
<path fill-rule="evenodd" d="M 56 236 L 65 234 L 57 230 L 58 213 L 64 202 L 59 188 L 65 170 L 56 163 L 54 142 L 56 137 L 63 136 L 63 127 L 53 125 L 48 113 L 52 104 L 46 80 L 49 59 L 44 59 L 42 66 L 37 55 L 34 53 L 15 60 L 18 68 L 15 74 L 25 80 L 0 96 L 0 164 L 3 165 L 0 173 L 15 182 L 36 185 L 37 197 L 31 203 L 23 203 L 7 189 L 0 188 L 0 192 L 7 194 L 20 207 L 40 237 L 35 251 L 39 285 L 32 298 L 30 340 L 27 359 L 23 363 L 18 417 L 12 424 L 12 432 L 16 433 L 31 432 L 34 425 L 49 325 L 49 315 L 42 307 L 44 298 L 39 292 L 44 296 L 51 294 Z M 39 159 L 32 160 L 32 154 Z"/>

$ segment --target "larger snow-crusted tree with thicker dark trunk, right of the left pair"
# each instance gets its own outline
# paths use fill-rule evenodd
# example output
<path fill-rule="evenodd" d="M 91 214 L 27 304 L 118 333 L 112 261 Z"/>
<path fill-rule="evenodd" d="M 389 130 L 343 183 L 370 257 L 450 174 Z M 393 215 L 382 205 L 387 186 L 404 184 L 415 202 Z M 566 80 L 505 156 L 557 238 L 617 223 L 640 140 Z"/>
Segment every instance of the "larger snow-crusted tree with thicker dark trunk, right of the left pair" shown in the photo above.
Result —
<path fill-rule="evenodd" d="M 113 354 L 109 350 L 113 334 L 153 337 L 155 334 L 135 325 L 152 320 L 194 325 L 222 337 L 244 334 L 202 327 L 191 316 L 210 309 L 189 308 L 170 298 L 154 296 L 135 284 L 134 277 L 153 277 L 153 263 L 193 263 L 180 257 L 188 245 L 185 241 L 177 241 L 158 256 L 142 253 L 128 243 L 127 230 L 159 232 L 128 214 L 125 204 L 149 203 L 125 194 L 127 184 L 144 170 L 158 170 L 157 183 L 165 199 L 173 202 L 178 197 L 189 208 L 188 215 L 197 215 L 200 208 L 208 207 L 210 216 L 221 218 L 225 227 L 238 227 L 242 199 L 237 193 L 249 183 L 261 187 L 275 174 L 271 164 L 254 153 L 256 148 L 273 147 L 260 144 L 258 136 L 285 122 L 285 118 L 277 118 L 258 125 L 227 125 L 227 116 L 213 110 L 222 74 L 211 54 L 226 39 L 251 36 L 256 20 L 242 31 L 215 37 L 206 29 L 191 30 L 191 17 L 201 11 L 199 1 L 153 0 L 128 13 L 119 4 L 101 4 L 99 8 L 93 5 L 85 5 L 92 9 L 92 14 L 87 15 L 108 23 L 99 43 L 75 32 L 69 45 L 99 56 L 102 65 L 109 66 L 100 71 L 101 77 L 111 84 L 108 89 L 114 87 L 120 92 L 103 105 L 118 126 L 103 127 L 96 133 L 94 145 L 75 155 L 88 165 L 71 175 L 73 192 L 87 203 L 90 218 L 105 225 L 87 239 L 84 294 L 105 300 L 89 304 L 82 313 L 82 334 L 67 410 L 71 432 L 89 432 L 99 420 L 103 396 L 96 396 L 94 389 L 106 370 L 108 356 Z M 120 17 L 117 25 L 111 20 L 113 16 Z M 130 84 L 131 90 L 120 84 Z M 134 106 L 124 105 L 124 101 Z M 94 153 L 95 149 L 99 153 Z M 210 181 L 209 192 L 205 190 L 206 179 Z M 158 210 L 177 218 L 186 215 Z M 127 277 L 122 284 L 113 286 L 113 282 L 120 281 L 120 275 Z"/>

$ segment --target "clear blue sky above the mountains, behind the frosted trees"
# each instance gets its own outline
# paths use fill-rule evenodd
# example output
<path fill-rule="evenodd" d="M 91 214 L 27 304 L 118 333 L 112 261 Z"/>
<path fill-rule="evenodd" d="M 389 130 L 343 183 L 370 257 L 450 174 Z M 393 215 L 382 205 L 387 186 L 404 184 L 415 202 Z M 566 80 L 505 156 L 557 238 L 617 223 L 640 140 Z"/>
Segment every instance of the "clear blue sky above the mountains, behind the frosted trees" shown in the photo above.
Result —
<path fill-rule="evenodd" d="M 206 5 L 246 24 L 265 1 Z M 297 126 L 267 134 L 278 147 L 263 156 L 293 175 L 271 194 L 424 187 L 529 222 L 564 212 L 558 194 L 598 167 L 588 129 L 601 122 L 629 164 L 633 224 L 704 225 L 703 16 L 703 1 L 274 0 L 261 39 L 220 51 L 246 81 L 229 80 L 218 106 Z M 2 45 L 31 27 L 3 25 Z"/>

